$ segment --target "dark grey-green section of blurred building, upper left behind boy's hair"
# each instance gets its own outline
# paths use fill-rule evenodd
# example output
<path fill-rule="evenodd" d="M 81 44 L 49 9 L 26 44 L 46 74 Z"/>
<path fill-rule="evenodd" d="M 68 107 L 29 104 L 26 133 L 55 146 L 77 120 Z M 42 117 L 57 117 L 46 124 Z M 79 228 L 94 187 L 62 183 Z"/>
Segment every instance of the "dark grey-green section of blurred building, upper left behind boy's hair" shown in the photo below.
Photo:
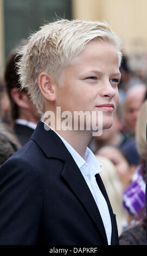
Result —
<path fill-rule="evenodd" d="M 10 51 L 56 17 L 72 18 L 72 0 L 0 0 L 0 76 Z"/>

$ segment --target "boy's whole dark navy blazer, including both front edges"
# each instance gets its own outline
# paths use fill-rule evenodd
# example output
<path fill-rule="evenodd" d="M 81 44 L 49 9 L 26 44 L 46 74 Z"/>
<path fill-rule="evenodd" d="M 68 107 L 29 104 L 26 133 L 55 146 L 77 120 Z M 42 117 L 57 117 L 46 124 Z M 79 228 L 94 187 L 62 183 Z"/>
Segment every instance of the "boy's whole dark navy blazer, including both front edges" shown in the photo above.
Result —
<path fill-rule="evenodd" d="M 115 215 L 100 175 L 118 244 Z M 30 141 L 0 168 L 1 245 L 107 245 L 84 177 L 59 136 L 40 121 Z"/>

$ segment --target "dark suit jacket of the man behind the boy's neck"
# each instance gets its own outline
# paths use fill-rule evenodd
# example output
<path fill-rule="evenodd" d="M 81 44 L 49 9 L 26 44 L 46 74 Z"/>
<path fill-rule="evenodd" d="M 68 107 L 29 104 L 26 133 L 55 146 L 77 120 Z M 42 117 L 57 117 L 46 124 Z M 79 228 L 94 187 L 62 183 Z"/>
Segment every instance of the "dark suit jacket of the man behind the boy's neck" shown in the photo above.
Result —
<path fill-rule="evenodd" d="M 29 141 L 33 132 L 34 129 L 28 127 L 27 125 L 17 123 L 14 125 L 14 133 L 22 146 Z"/>

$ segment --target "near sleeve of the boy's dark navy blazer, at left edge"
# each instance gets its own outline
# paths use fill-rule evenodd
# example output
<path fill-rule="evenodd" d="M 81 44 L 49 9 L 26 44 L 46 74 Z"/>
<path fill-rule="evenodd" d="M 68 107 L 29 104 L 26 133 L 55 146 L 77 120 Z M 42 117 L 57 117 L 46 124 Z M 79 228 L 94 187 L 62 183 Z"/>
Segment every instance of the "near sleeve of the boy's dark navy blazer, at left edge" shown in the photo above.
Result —
<path fill-rule="evenodd" d="M 41 181 L 27 160 L 0 168 L 0 245 L 35 245 L 42 211 Z"/>

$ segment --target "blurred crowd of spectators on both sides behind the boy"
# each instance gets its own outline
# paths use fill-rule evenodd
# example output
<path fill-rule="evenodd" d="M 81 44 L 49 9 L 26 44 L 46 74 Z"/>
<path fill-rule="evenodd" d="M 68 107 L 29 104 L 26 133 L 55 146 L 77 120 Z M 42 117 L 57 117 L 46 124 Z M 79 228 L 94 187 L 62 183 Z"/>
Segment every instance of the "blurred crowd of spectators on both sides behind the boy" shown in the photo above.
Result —
<path fill-rule="evenodd" d="M 41 118 L 29 94 L 20 91 L 19 58 L 16 49 L 10 52 L 0 81 L 0 165 L 27 143 Z M 130 69 L 129 57 L 123 57 L 120 71 L 120 101 L 113 125 L 94 136 L 88 147 L 102 166 L 120 245 L 145 245 L 147 81 L 141 72 Z"/>

